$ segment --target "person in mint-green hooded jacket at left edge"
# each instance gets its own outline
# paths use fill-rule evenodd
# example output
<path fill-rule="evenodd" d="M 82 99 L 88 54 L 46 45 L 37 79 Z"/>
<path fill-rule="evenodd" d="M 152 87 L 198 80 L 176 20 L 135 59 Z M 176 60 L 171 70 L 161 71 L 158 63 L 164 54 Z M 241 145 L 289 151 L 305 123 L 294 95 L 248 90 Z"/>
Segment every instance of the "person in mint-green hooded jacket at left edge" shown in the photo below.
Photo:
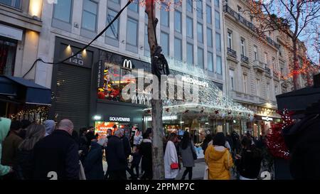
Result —
<path fill-rule="evenodd" d="M 0 117 L 0 161 L 1 161 L 1 155 L 2 155 L 2 141 L 4 141 L 4 138 L 9 133 L 11 120 Z M 10 166 L 4 166 L 0 163 L 0 177 L 5 176 L 9 173 L 13 173 L 13 169 Z"/>

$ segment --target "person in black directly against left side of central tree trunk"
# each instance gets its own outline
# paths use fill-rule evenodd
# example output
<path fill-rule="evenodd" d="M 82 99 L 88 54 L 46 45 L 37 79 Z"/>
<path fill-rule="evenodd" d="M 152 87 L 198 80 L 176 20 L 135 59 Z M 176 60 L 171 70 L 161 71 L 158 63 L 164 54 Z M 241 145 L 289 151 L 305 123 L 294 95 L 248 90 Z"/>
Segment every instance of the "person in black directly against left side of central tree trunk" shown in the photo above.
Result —
<path fill-rule="evenodd" d="M 142 156 L 142 171 L 144 174 L 142 175 L 143 180 L 151 180 L 153 178 L 152 173 L 152 129 L 146 129 L 144 132 L 142 143 L 140 144 L 140 154 Z"/>

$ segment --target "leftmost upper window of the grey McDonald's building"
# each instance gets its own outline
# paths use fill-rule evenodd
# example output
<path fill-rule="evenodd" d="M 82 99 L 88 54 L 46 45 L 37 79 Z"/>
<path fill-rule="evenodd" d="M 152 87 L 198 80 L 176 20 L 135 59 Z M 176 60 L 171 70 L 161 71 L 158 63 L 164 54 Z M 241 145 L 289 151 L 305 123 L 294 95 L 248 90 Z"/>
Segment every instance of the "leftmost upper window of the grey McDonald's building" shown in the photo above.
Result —
<path fill-rule="evenodd" d="M 56 18 L 60 21 L 64 21 L 66 23 L 70 23 L 71 7 L 71 0 L 58 1 L 57 4 L 54 4 L 53 18 Z"/>

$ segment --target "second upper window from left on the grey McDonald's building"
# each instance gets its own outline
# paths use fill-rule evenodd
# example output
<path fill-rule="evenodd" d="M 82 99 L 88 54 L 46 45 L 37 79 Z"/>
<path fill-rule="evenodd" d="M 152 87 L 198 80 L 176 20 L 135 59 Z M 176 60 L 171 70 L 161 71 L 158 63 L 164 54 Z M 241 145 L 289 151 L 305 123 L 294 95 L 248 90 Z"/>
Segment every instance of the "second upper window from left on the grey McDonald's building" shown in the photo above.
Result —
<path fill-rule="evenodd" d="M 97 30 L 97 2 L 84 0 L 82 13 L 82 28 L 88 31 Z"/>

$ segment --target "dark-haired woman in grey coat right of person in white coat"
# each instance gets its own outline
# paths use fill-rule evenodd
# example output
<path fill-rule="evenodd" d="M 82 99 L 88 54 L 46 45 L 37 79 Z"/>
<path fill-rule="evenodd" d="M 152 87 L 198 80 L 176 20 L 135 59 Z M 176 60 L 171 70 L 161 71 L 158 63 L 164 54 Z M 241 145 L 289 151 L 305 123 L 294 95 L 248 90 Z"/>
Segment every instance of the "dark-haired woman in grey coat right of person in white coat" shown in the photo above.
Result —
<path fill-rule="evenodd" d="M 186 178 L 188 174 L 189 180 L 192 179 L 192 168 L 195 166 L 194 161 L 196 160 L 196 149 L 194 149 L 193 142 L 191 141 L 190 134 L 185 131 L 181 140 L 180 153 L 182 158 L 183 167 L 186 170 L 183 172 L 181 180 Z"/>

